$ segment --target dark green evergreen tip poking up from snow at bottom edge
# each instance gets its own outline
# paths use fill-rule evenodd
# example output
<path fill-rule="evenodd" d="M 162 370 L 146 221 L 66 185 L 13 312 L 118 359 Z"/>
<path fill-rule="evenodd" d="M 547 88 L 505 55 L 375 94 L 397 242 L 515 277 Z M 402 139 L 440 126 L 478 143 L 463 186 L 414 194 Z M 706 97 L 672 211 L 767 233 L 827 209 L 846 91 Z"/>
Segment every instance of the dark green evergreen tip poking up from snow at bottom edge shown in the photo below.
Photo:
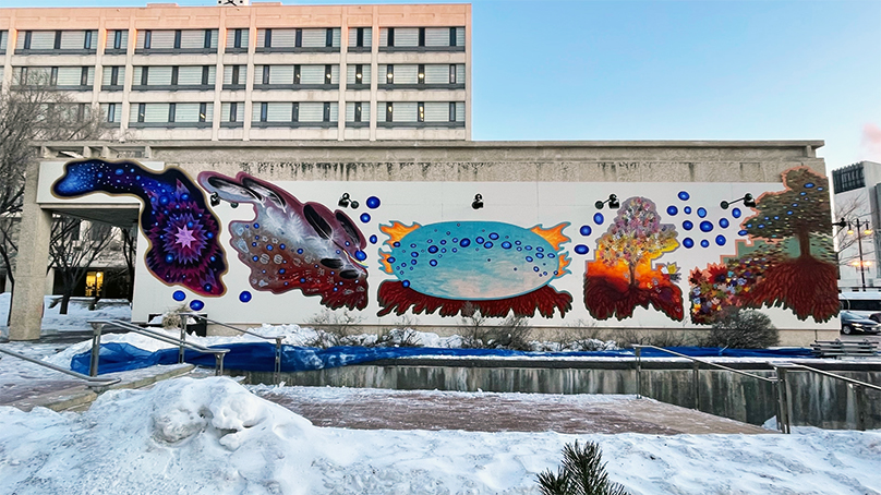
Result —
<path fill-rule="evenodd" d="M 584 448 L 578 440 L 563 448 L 563 466 L 555 474 L 539 474 L 539 488 L 544 495 L 627 495 L 624 486 L 608 481 L 600 446 L 588 442 Z"/>

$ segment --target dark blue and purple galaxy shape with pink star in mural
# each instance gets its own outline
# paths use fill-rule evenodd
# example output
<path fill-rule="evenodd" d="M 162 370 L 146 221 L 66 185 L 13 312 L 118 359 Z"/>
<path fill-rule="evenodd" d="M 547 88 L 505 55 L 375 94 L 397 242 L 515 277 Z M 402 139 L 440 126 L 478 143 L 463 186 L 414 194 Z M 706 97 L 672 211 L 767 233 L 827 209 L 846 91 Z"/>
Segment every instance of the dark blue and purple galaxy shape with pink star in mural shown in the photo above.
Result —
<path fill-rule="evenodd" d="M 52 184 L 58 197 L 104 192 L 143 201 L 141 230 L 149 240 L 147 269 L 168 285 L 180 285 L 202 295 L 226 291 L 227 270 L 217 242 L 219 222 L 202 191 L 180 169 L 150 171 L 135 161 L 75 160 Z"/>

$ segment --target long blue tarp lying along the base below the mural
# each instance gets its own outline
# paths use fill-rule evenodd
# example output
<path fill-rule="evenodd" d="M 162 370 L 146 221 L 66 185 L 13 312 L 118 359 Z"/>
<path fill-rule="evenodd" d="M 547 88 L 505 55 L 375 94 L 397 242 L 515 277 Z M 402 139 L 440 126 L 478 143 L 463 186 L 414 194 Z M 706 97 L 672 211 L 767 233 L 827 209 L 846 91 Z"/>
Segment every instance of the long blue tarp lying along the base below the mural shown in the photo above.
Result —
<path fill-rule="evenodd" d="M 224 366 L 229 370 L 270 372 L 275 366 L 275 345 L 269 342 L 227 343 L 213 346 L 215 349 L 229 349 Z M 720 349 L 705 347 L 672 347 L 669 350 L 695 358 L 811 358 L 810 349 Z M 113 373 L 137 370 L 155 364 L 176 364 L 178 348 L 147 352 L 128 343 L 108 342 L 101 345 L 98 361 L 99 373 Z M 71 360 L 71 370 L 88 373 L 90 352 L 76 354 Z M 456 358 L 632 358 L 632 350 L 590 351 L 590 352 L 523 352 L 505 349 L 437 349 L 419 347 L 331 347 L 317 349 L 297 346 L 281 346 L 281 371 L 309 371 L 325 367 L 346 366 L 371 361 L 397 358 L 420 357 L 456 357 Z M 672 358 L 663 351 L 643 349 L 645 358 Z M 185 351 L 184 361 L 201 366 L 214 366 L 214 354 Z"/>

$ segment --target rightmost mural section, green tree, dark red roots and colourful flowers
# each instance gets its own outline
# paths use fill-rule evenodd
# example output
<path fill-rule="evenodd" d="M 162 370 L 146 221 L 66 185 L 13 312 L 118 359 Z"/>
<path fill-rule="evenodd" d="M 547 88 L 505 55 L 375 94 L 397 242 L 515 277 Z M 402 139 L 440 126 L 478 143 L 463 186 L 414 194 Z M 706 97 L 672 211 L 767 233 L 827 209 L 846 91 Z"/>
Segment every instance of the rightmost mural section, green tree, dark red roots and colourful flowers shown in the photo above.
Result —
<path fill-rule="evenodd" d="M 727 307 L 780 306 L 799 319 L 838 312 L 829 180 L 801 167 L 783 173 L 782 192 L 759 196 L 734 257 L 691 271 L 691 321 L 712 324 Z"/>

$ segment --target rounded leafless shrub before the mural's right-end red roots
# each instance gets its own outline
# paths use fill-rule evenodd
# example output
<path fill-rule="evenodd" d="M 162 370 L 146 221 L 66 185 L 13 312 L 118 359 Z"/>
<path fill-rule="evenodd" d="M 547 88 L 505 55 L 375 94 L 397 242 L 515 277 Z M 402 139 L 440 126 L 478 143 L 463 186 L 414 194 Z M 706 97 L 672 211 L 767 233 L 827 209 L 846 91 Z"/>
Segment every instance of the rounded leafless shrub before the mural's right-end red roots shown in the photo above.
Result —
<path fill-rule="evenodd" d="M 780 343 L 780 333 L 768 315 L 755 310 L 729 309 L 713 324 L 705 347 L 764 349 Z"/>

